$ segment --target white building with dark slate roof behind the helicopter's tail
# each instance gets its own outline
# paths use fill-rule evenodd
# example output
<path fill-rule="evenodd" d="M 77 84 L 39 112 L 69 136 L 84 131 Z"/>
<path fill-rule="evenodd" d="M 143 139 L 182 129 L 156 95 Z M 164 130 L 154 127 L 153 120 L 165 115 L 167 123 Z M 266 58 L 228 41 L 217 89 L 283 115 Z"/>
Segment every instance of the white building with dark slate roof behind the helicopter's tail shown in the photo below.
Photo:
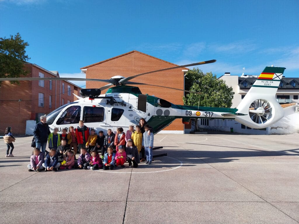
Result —
<path fill-rule="evenodd" d="M 234 91 L 231 108 L 236 108 L 258 76 L 231 76 L 225 73 L 219 79 L 225 80 L 226 85 Z M 262 130 L 249 128 L 239 122 L 229 119 L 199 119 L 199 128 L 213 131 L 232 131 L 246 134 L 291 134 L 299 132 L 299 78 L 285 78 L 283 76 L 276 93 L 277 101 L 284 108 L 284 117 L 275 124 Z M 296 109 L 298 108 L 298 109 Z M 249 108 L 248 108 L 249 109 Z"/>

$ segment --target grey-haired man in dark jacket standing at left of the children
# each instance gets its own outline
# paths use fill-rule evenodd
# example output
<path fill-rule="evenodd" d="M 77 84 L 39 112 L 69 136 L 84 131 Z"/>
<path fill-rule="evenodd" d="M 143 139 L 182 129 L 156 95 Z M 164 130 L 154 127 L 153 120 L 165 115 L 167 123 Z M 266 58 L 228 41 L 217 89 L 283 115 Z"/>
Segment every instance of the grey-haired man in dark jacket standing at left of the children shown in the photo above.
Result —
<path fill-rule="evenodd" d="M 33 129 L 33 136 L 36 142 L 36 148 L 39 148 L 42 153 L 45 153 L 48 142 L 48 136 L 50 134 L 49 125 L 47 124 L 47 117 L 45 115 L 40 116 L 40 122 L 37 123 Z"/>

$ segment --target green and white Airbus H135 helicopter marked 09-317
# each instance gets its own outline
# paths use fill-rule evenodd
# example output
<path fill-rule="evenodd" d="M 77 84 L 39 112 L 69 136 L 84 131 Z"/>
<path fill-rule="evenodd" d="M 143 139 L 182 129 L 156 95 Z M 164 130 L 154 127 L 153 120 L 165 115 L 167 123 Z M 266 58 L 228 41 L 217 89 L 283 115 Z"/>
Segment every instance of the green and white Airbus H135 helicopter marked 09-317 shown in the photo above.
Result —
<path fill-rule="evenodd" d="M 284 116 L 283 108 L 275 99 L 275 93 L 286 69 L 284 67 L 265 67 L 237 108 L 175 105 L 159 97 L 142 94 L 140 89 L 134 86 L 149 84 L 129 81 L 153 72 L 214 62 L 216 60 L 170 67 L 129 77 L 113 76 L 110 79 L 1 78 L 0 81 L 57 79 L 109 83 L 98 89 L 82 89 L 80 90 L 81 96 L 74 94 L 78 98 L 76 101 L 62 105 L 47 114 L 47 123 L 51 131 L 54 128 L 59 128 L 61 131 L 62 128 L 77 127 L 79 121 L 83 120 L 89 129 L 103 131 L 106 134 L 108 129 L 116 131 L 116 128 L 122 127 L 126 130 L 129 125 L 137 125 L 140 118 L 147 121 L 154 134 L 170 125 L 175 119 L 182 119 L 183 124 L 188 124 L 191 118 L 235 119 L 248 127 L 261 129 L 274 124 Z M 107 88 L 106 93 L 102 94 L 102 91 Z M 171 87 L 165 88 L 179 90 Z"/>

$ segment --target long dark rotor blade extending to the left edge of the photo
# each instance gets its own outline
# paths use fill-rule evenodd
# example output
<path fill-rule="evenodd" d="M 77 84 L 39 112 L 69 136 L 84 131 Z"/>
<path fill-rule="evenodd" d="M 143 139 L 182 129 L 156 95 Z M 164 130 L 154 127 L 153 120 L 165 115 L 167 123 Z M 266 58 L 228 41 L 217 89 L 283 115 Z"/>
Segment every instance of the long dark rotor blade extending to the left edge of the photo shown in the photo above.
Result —
<path fill-rule="evenodd" d="M 84 78 L 0 78 L 0 81 L 39 81 L 39 80 L 70 80 L 70 81 L 97 81 L 97 82 L 109 82 L 113 85 L 116 85 L 114 79 L 84 79 Z"/>

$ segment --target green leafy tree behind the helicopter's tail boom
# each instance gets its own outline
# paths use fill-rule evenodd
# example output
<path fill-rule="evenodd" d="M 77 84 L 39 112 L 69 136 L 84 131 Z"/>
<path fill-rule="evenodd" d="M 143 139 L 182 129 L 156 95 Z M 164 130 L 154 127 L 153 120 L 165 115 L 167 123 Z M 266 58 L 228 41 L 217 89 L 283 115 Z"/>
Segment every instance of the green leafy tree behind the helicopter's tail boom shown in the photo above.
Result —
<path fill-rule="evenodd" d="M 234 92 L 225 81 L 217 79 L 212 72 L 203 73 L 198 68 L 189 70 L 185 75 L 185 90 L 200 92 L 201 94 L 188 93 L 183 96 L 184 105 L 203 107 L 230 108 Z M 195 119 L 197 129 L 197 119 Z"/>

